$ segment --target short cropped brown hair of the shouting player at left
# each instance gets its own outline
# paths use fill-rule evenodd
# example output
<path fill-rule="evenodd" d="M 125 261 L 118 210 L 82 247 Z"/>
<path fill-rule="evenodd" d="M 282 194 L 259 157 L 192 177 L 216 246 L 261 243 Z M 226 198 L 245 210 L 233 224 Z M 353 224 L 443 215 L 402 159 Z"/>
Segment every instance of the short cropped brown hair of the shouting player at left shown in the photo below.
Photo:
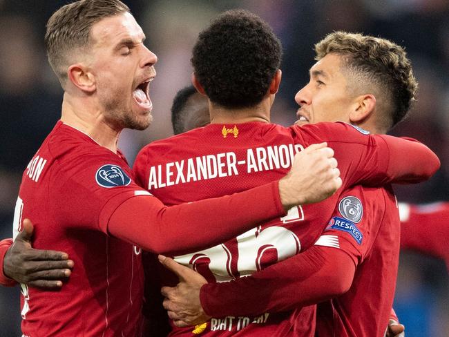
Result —
<path fill-rule="evenodd" d="M 124 12 L 129 12 L 129 8 L 119 0 L 81 0 L 62 6 L 48 19 L 45 35 L 48 61 L 63 88 L 70 54 L 95 43 L 90 34 L 92 26 Z"/>

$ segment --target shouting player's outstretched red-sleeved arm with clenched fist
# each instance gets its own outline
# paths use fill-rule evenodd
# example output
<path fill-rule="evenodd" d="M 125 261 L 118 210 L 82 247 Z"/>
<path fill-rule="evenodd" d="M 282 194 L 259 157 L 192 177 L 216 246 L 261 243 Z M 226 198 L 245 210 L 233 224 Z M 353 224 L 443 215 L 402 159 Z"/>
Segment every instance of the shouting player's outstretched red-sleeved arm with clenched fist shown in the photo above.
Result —
<path fill-rule="evenodd" d="M 213 246 L 296 204 L 332 195 L 341 186 L 332 154 L 323 145 L 310 146 L 296 155 L 283 179 L 222 198 L 170 207 L 150 195 L 129 198 L 108 218 L 100 215 L 99 223 L 107 233 L 157 253 L 198 250 L 204 242 Z"/>

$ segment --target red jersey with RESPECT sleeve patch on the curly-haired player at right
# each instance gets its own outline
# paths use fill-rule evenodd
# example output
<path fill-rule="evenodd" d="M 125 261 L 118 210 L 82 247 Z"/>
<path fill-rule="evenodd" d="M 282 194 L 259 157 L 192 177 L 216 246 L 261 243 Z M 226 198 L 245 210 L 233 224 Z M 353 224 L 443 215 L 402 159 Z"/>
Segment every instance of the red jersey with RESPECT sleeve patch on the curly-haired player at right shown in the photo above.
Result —
<path fill-rule="evenodd" d="M 396 287 L 400 231 L 391 189 L 356 186 L 342 193 L 315 244 L 345 251 L 356 271 L 349 291 L 318 304 L 317 337 L 384 336 Z"/>

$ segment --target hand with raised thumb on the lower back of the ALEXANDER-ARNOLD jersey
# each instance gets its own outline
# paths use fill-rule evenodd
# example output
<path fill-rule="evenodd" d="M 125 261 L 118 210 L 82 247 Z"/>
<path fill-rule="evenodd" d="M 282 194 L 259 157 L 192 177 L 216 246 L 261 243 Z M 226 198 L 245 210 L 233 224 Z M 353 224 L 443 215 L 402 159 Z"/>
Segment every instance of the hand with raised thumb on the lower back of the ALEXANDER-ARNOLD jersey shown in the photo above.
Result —
<path fill-rule="evenodd" d="M 172 258 L 158 256 L 160 262 L 175 273 L 180 282 L 176 287 L 162 287 L 165 297 L 163 305 L 169 318 L 177 327 L 189 327 L 206 322 L 211 318 L 201 307 L 200 289 L 207 281 L 199 273 L 175 262 Z"/>

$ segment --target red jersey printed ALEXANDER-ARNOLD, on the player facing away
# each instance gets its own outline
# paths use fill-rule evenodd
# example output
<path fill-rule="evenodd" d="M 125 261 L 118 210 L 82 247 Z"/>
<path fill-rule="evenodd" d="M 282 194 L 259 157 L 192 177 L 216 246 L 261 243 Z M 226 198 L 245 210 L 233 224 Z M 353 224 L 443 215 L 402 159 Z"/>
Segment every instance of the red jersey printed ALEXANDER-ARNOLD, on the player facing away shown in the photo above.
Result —
<path fill-rule="evenodd" d="M 179 204 L 276 180 L 288 171 L 297 151 L 317 142 L 327 142 L 334 149 L 345 189 L 358 182 L 390 182 L 392 172 L 401 175 L 395 171 L 396 153 L 390 148 L 399 143 L 405 146 L 408 141 L 367 135 L 340 122 L 290 128 L 260 122 L 211 124 L 149 144 L 137 156 L 134 171 L 141 186 L 157 198 L 166 204 Z M 412 179 L 410 170 L 402 177 Z M 178 253 L 174 258 L 202 273 L 209 282 L 251 275 L 312 246 L 331 218 L 338 195 L 320 204 L 294 207 L 283 218 L 260 224 L 233 240 L 202 251 Z M 210 230 L 213 231 L 213 224 Z M 175 285 L 176 281 L 166 276 L 164 283 Z M 314 309 L 307 314 L 303 311 L 212 318 L 207 325 L 173 328 L 172 335 L 287 336 L 293 322 L 299 320 L 307 324 L 298 327 L 298 336 L 300 329 L 313 334 Z"/>

